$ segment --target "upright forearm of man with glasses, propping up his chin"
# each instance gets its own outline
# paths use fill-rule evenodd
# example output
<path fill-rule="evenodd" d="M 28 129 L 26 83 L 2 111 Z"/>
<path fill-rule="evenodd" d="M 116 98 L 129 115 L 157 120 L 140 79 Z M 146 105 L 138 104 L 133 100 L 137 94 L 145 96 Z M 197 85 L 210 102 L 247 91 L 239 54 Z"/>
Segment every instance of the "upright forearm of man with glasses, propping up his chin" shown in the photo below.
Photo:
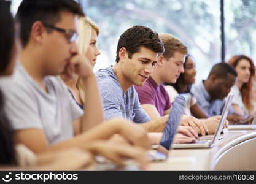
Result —
<path fill-rule="evenodd" d="M 83 79 L 85 86 L 85 114 L 82 117 L 82 132 L 104 121 L 103 105 L 99 96 L 95 75 Z"/>

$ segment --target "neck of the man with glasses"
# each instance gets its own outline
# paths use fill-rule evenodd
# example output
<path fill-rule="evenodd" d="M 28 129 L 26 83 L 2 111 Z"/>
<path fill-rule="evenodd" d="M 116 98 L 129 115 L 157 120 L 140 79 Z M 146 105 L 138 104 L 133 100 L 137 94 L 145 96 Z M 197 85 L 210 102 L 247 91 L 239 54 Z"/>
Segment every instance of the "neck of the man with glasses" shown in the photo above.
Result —
<path fill-rule="evenodd" d="M 46 90 L 44 85 L 44 77 L 46 76 L 43 72 L 43 66 L 41 58 L 38 57 L 39 53 L 36 52 L 30 45 L 27 45 L 20 53 L 20 63 L 26 69 L 26 72 L 34 79 L 34 81 Z"/>

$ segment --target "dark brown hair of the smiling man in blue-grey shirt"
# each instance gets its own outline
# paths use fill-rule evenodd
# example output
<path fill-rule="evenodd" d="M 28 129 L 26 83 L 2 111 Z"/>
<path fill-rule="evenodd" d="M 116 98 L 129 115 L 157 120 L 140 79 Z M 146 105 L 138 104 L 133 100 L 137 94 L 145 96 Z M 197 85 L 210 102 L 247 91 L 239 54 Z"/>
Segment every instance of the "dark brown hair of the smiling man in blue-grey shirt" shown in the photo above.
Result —
<path fill-rule="evenodd" d="M 117 44 L 117 57 L 115 61 L 119 61 L 119 50 L 125 47 L 128 57 L 131 59 L 134 53 L 139 52 L 139 47 L 144 46 L 155 53 L 163 53 L 164 47 L 158 33 L 145 26 L 133 26 L 127 29 L 119 38 Z"/>

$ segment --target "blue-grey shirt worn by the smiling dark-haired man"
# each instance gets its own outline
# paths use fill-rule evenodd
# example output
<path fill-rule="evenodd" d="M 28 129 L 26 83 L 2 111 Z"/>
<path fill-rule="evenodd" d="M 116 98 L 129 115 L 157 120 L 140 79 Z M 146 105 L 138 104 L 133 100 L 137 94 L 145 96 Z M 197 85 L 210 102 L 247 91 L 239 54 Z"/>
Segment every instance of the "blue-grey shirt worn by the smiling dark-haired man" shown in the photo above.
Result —
<path fill-rule="evenodd" d="M 99 91 L 103 99 L 106 120 L 123 117 L 135 123 L 150 121 L 149 115 L 142 109 L 138 94 L 133 86 L 126 93 L 120 86 L 112 67 L 100 69 L 96 72 Z"/>

